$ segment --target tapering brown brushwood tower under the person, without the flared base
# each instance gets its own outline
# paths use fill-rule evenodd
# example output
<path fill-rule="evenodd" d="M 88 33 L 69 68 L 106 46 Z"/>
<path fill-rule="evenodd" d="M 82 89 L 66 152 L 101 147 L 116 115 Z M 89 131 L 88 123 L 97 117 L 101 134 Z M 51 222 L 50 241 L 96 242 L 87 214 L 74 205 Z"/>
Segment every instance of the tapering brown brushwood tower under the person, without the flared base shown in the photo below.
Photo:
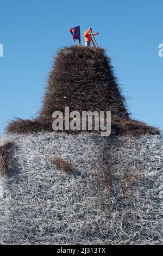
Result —
<path fill-rule="evenodd" d="M 124 98 L 103 48 L 72 46 L 58 52 L 41 115 L 54 111 L 111 111 L 128 117 Z"/>

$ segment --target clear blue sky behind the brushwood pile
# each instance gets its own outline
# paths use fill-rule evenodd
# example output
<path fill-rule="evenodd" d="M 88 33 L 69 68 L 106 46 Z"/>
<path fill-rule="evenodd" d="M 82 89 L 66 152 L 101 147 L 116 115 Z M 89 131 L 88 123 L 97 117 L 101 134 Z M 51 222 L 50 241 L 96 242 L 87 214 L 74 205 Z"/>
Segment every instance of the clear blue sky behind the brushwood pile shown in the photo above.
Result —
<path fill-rule="evenodd" d="M 162 0 L 1 0 L 0 11 L 0 134 L 14 116 L 39 111 L 53 56 L 78 25 L 82 36 L 99 32 L 133 118 L 163 129 Z"/>

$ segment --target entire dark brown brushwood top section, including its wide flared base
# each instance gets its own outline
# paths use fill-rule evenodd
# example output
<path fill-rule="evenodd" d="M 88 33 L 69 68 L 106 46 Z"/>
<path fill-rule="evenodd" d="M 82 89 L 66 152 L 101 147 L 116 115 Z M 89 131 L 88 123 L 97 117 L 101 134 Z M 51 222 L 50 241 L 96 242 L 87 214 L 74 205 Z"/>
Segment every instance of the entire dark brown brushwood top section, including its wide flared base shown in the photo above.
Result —
<path fill-rule="evenodd" d="M 54 111 L 64 113 L 65 107 L 70 107 L 70 112 L 80 113 L 111 111 L 111 133 L 114 135 L 160 133 L 155 127 L 131 119 L 110 58 L 106 56 L 103 48 L 71 46 L 61 49 L 49 74 L 48 87 L 39 116 L 33 120 L 12 120 L 7 131 L 53 131 L 52 114 Z"/>

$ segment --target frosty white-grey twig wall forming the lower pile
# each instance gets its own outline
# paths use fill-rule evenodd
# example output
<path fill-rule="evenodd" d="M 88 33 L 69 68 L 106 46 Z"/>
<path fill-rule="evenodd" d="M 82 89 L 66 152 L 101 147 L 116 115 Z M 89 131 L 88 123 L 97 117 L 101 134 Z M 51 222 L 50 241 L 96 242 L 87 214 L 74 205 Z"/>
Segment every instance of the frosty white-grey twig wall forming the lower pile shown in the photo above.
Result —
<path fill-rule="evenodd" d="M 53 132 L 2 139 L 18 144 L 18 172 L 0 184 L 1 244 L 162 244 L 160 136 Z M 55 168 L 54 156 L 77 163 L 76 171 Z"/>

